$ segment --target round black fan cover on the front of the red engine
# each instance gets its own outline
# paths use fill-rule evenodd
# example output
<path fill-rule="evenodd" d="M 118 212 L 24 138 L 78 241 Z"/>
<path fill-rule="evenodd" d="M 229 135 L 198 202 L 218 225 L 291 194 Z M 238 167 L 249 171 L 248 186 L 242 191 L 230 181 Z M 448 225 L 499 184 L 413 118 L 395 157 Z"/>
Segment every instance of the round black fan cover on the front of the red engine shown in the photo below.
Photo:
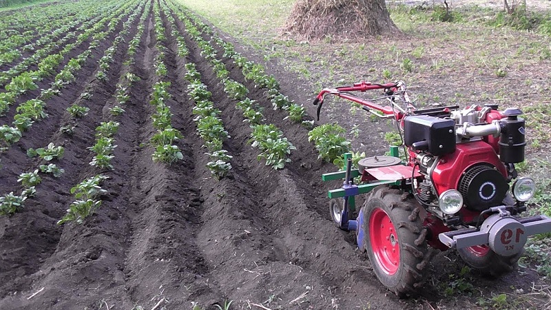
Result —
<path fill-rule="evenodd" d="M 501 205 L 509 185 L 503 175 L 488 165 L 470 167 L 459 179 L 457 187 L 468 209 L 483 211 Z"/>

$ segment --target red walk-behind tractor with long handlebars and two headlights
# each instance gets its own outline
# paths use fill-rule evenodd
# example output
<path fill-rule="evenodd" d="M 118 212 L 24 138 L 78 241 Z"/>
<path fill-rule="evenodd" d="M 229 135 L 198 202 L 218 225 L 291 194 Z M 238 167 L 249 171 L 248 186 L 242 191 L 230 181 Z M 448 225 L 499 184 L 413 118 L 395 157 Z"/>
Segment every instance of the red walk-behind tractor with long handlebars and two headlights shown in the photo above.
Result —
<path fill-rule="evenodd" d="M 368 101 L 352 93 L 368 90 L 384 95 Z M 551 231 L 549 218 L 521 216 L 536 190 L 534 180 L 517 177 L 514 168 L 526 145 L 521 110 L 500 112 L 493 104 L 417 109 L 402 81 L 362 81 L 322 90 L 314 101 L 318 118 L 327 94 L 393 118 L 402 136 L 405 158 L 393 147 L 391 156 L 363 158 L 353 169 L 345 154 L 344 170 L 322 177 L 344 178 L 329 191 L 331 218 L 355 231 L 377 278 L 398 296 L 419 291 L 434 249 L 457 249 L 472 269 L 497 277 L 516 267 L 528 236 Z M 355 196 L 366 193 L 353 219 Z"/>

